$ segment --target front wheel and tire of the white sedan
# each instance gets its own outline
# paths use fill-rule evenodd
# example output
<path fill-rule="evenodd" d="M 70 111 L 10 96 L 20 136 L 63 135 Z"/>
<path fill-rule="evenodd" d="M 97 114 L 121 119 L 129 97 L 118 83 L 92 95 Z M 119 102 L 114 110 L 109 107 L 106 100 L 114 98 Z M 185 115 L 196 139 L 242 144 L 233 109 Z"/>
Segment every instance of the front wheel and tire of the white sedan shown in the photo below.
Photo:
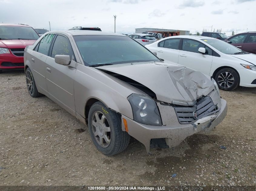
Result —
<path fill-rule="evenodd" d="M 236 70 L 232 68 L 223 68 L 215 75 L 215 81 L 219 89 L 224 91 L 232 91 L 240 84 L 240 78 Z"/>

